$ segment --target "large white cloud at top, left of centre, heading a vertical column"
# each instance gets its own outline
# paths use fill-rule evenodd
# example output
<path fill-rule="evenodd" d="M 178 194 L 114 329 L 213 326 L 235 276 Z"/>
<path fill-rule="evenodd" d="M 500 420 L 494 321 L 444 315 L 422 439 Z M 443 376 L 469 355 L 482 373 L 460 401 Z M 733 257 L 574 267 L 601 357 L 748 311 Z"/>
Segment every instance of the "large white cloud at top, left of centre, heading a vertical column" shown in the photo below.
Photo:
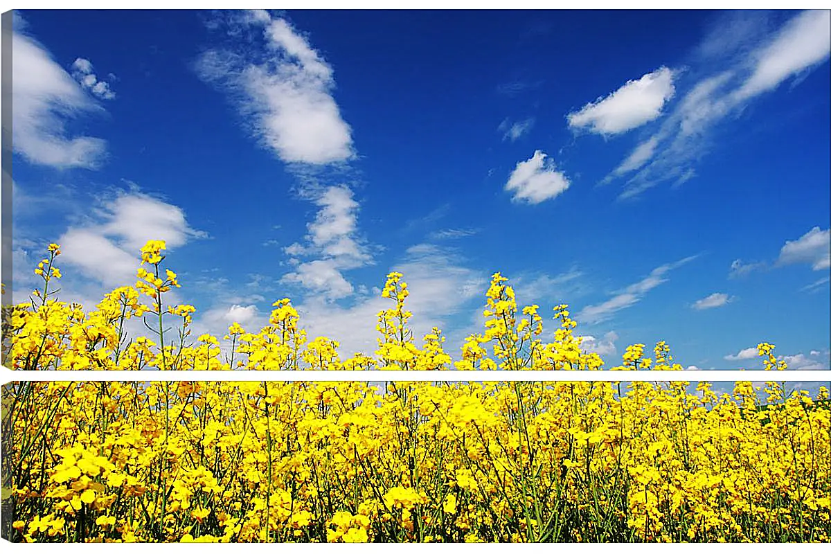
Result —
<path fill-rule="evenodd" d="M 352 130 L 332 97 L 332 68 L 288 22 L 268 12 L 235 14 L 237 25 L 262 28 L 265 50 L 253 43 L 209 50 L 199 76 L 228 91 L 253 135 L 287 163 L 351 159 Z"/>

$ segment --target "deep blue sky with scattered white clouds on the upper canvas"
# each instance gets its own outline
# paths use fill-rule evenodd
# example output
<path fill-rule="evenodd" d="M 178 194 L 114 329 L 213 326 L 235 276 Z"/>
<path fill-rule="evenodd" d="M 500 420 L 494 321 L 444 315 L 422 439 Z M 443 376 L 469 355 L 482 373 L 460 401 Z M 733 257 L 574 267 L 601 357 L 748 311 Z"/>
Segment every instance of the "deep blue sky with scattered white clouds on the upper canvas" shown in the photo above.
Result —
<path fill-rule="evenodd" d="M 615 363 L 829 365 L 829 12 L 22 11 L 15 302 L 170 247 L 197 331 L 291 297 L 372 351 L 379 287 L 458 355 L 493 272 Z M 548 331 L 554 324 L 549 321 Z M 548 335 L 547 335 L 548 336 Z M 420 341 L 419 341 L 420 343 Z M 750 350 L 752 348 L 752 351 Z"/>

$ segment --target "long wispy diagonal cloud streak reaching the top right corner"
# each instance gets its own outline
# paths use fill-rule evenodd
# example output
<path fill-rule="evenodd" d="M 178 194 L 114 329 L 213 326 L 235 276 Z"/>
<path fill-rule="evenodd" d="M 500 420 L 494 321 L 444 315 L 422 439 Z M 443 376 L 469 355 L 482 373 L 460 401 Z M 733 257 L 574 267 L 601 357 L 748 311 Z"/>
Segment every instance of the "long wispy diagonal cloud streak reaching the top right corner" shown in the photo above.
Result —
<path fill-rule="evenodd" d="M 774 32 L 756 19 L 753 14 L 730 17 L 706 37 L 697 49 L 705 76 L 681 96 L 658 129 L 612 169 L 603 184 L 626 179 L 621 199 L 666 181 L 681 184 L 695 174 L 697 162 L 713 147 L 716 125 L 730 115 L 740 115 L 751 101 L 784 81 L 804 76 L 828 60 L 828 10 L 800 12 Z"/>

